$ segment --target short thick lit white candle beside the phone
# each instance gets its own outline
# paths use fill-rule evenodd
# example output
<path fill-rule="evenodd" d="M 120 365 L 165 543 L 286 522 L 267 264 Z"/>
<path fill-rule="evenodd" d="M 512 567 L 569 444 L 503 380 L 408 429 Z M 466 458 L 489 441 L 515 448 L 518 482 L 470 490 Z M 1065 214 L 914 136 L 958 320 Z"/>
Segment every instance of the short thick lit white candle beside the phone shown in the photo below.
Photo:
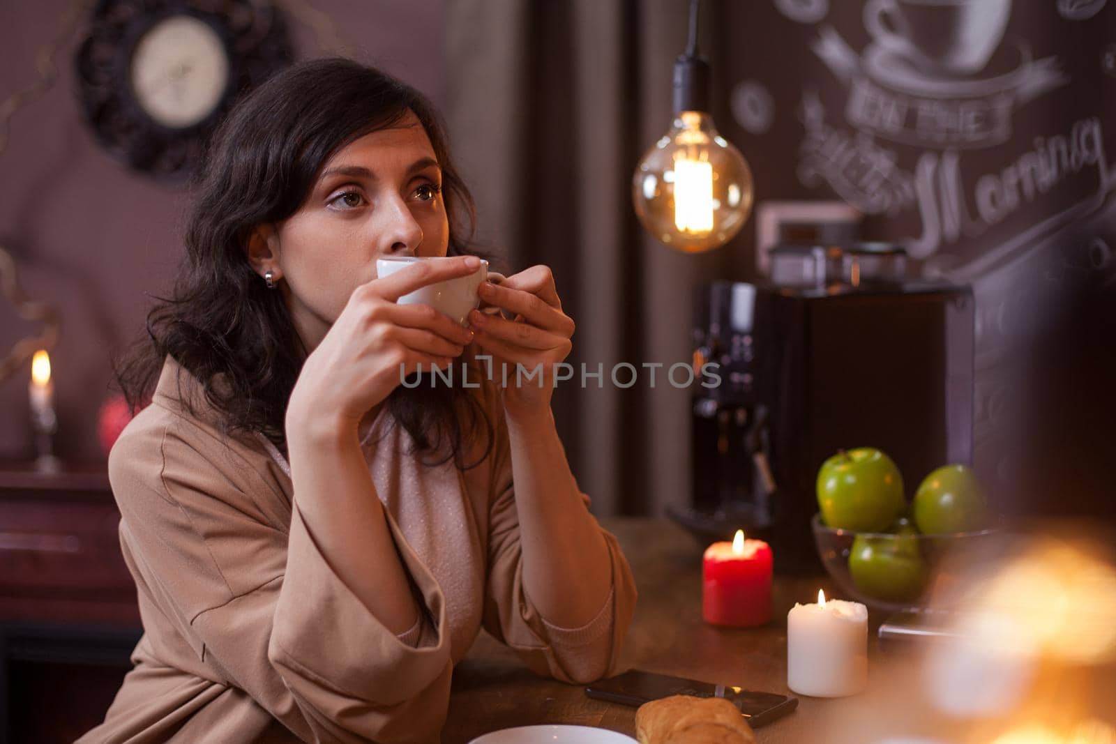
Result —
<path fill-rule="evenodd" d="M 799 695 L 843 697 L 868 684 L 868 608 L 826 600 L 787 615 L 787 686 Z"/>

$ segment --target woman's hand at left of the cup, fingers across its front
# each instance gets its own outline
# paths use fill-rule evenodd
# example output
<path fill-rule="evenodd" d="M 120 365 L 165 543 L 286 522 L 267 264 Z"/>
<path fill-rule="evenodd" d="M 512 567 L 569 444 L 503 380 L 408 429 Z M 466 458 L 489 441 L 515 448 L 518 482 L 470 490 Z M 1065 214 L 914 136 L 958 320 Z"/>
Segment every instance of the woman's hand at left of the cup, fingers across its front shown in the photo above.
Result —
<path fill-rule="evenodd" d="M 288 436 L 295 431 L 330 437 L 356 432 L 360 418 L 420 364 L 423 369 L 450 365 L 472 340 L 472 331 L 427 305 L 395 301 L 479 268 L 472 255 L 416 261 L 357 287 L 302 366 L 287 408 Z"/>

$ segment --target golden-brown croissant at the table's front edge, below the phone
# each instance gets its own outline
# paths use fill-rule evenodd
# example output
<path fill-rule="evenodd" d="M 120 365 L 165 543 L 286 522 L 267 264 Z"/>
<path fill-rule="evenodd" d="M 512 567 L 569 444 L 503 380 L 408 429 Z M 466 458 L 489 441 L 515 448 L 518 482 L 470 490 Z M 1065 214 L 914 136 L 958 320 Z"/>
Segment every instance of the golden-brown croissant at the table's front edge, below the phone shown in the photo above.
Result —
<path fill-rule="evenodd" d="M 740 709 L 723 697 L 671 695 L 635 713 L 639 744 L 756 744 Z"/>

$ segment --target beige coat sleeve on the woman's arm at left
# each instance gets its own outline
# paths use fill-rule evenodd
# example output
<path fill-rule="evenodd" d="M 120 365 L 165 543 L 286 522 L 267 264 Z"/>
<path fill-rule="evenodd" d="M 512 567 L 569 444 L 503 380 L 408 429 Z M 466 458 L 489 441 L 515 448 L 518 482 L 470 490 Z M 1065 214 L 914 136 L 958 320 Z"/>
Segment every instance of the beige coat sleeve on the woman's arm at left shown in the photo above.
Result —
<path fill-rule="evenodd" d="M 453 668 L 445 601 L 394 521 L 422 610 L 398 636 L 334 571 L 297 496 L 288 533 L 252 497 L 263 479 L 195 438 L 122 436 L 109 457 L 122 534 L 155 606 L 205 668 L 301 741 L 435 741 Z"/>

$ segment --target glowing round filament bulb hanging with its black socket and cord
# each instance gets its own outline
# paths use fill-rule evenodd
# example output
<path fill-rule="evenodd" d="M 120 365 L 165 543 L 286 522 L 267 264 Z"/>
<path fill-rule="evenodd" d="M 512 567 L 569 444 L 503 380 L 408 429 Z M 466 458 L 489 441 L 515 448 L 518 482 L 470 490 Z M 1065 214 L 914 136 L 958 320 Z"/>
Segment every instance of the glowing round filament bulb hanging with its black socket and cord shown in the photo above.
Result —
<path fill-rule="evenodd" d="M 648 149 L 632 178 L 644 229 L 687 253 L 720 248 L 752 211 L 752 172 L 718 134 L 709 115 L 709 64 L 698 55 L 698 0 L 690 3 L 690 44 L 674 62 L 674 125 Z"/>

